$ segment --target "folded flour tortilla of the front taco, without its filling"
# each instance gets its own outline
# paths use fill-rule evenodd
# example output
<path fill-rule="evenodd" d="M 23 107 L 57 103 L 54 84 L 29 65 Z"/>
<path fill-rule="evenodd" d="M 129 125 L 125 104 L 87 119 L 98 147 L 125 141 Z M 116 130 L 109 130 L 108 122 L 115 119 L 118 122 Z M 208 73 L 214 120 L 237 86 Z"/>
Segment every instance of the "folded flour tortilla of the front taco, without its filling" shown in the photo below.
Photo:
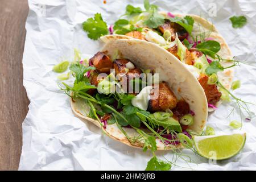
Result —
<path fill-rule="evenodd" d="M 207 121 L 207 98 L 199 82 L 193 77 L 185 66 L 165 49 L 153 43 L 137 39 L 117 39 L 105 44 L 102 51 L 110 57 L 116 52 L 122 58 L 130 59 L 138 68 L 153 69 L 159 73 L 159 81 L 166 81 L 178 100 L 185 100 L 191 110 L 194 111 L 194 123 L 189 129 L 197 134 L 201 134 Z M 89 107 L 82 100 L 71 100 L 73 112 L 82 119 L 90 121 L 98 127 L 102 127 L 100 122 L 86 117 Z M 138 133 L 131 128 L 123 127 L 129 137 L 138 137 Z M 130 143 L 126 136 L 118 129 L 116 124 L 107 125 L 104 132 L 109 137 L 133 147 L 143 147 L 143 142 Z M 158 150 L 171 150 L 181 148 L 181 144 L 165 147 L 159 139 L 156 141 Z"/>

